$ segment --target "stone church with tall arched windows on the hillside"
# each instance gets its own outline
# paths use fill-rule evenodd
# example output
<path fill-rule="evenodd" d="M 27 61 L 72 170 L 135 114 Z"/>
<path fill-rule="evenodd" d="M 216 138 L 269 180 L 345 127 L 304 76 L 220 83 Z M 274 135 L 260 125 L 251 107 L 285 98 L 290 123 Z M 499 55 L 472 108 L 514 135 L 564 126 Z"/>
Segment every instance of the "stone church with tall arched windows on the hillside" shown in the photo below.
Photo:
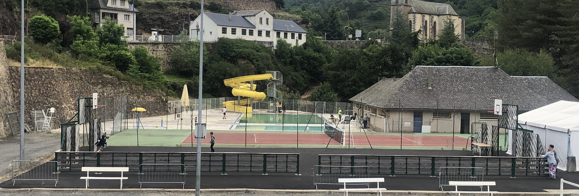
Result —
<path fill-rule="evenodd" d="M 464 19 L 445 3 L 418 0 L 391 0 L 390 19 L 402 12 L 410 22 L 412 31 L 422 30 L 421 40 L 438 39 L 445 20 L 454 20 L 455 34 L 464 39 Z"/>

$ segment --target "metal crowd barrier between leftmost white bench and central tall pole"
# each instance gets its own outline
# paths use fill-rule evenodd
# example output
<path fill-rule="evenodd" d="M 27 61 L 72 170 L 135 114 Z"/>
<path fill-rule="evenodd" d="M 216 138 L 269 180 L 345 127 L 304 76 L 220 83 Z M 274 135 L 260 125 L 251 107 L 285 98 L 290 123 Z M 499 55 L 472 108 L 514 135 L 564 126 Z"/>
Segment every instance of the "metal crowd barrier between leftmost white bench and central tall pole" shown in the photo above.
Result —
<path fill-rule="evenodd" d="M 143 183 L 181 183 L 185 189 L 184 164 L 141 164 L 139 168 L 140 188 Z"/>

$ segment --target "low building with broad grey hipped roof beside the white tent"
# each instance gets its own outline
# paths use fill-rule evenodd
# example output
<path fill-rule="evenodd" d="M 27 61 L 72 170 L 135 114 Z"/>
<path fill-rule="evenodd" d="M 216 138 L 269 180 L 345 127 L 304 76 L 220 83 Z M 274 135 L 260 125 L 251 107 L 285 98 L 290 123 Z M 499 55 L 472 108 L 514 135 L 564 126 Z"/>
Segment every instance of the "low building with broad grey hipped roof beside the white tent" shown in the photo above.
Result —
<path fill-rule="evenodd" d="M 519 113 L 557 101 L 579 101 L 548 77 L 510 76 L 493 66 L 416 66 L 402 78 L 382 79 L 350 98 L 380 132 L 475 132 L 472 123 L 497 125 L 494 99 Z"/>

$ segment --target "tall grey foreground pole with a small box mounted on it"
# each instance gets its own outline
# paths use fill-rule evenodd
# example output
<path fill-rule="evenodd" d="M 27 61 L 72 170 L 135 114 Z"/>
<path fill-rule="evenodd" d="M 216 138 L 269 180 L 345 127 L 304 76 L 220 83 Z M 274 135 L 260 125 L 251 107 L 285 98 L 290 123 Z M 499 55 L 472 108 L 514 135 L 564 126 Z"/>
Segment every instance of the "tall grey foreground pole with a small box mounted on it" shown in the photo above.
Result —
<path fill-rule="evenodd" d="M 201 109 L 203 107 L 203 0 L 201 0 L 201 17 L 200 17 L 200 25 L 199 31 L 201 32 L 201 37 L 199 39 L 199 98 L 197 100 L 199 104 L 199 109 L 197 110 L 197 116 L 199 116 L 199 124 L 197 124 L 196 131 L 201 131 Z M 189 21 L 190 22 L 190 21 Z M 195 195 L 199 196 L 201 193 L 201 137 L 200 135 L 197 138 L 197 164 L 195 166 Z"/>

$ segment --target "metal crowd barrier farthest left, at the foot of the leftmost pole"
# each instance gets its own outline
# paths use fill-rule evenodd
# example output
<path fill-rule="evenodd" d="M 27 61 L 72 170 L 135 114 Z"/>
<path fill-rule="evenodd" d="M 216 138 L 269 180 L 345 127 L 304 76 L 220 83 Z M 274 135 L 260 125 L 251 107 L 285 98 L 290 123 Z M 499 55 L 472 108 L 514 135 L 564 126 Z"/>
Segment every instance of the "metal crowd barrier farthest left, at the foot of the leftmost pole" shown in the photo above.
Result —
<path fill-rule="evenodd" d="M 58 162 L 57 161 L 12 161 L 12 186 L 16 180 L 41 180 L 54 181 L 54 186 L 58 183 Z"/>

